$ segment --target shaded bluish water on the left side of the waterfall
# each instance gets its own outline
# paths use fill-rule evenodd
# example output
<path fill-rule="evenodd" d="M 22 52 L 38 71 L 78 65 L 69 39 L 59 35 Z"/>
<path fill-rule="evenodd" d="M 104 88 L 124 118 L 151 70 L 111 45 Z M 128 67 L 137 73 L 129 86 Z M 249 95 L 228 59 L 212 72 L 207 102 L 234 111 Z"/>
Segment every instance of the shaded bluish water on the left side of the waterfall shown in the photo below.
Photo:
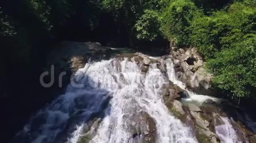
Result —
<path fill-rule="evenodd" d="M 10 143 L 64 143 L 77 127 L 109 114 L 111 92 L 80 73 L 66 92 L 38 111 Z"/>

